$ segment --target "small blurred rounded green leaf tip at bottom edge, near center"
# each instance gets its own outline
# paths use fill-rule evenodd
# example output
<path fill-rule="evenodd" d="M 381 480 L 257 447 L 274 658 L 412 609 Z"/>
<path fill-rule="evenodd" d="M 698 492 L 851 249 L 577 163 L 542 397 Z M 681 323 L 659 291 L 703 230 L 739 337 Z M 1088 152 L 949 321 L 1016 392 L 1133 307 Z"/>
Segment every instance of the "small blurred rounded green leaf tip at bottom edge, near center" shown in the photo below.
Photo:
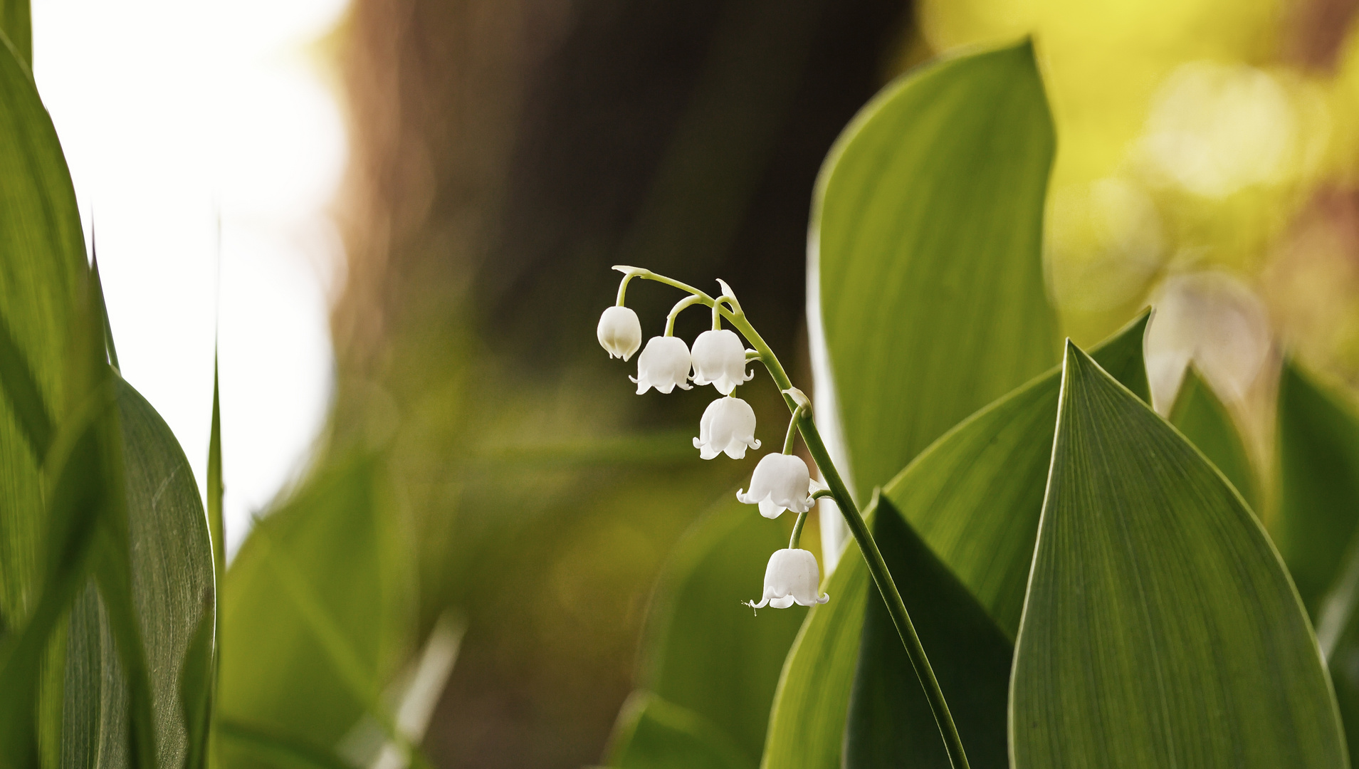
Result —
<path fill-rule="evenodd" d="M 620 769 L 745 769 L 752 759 L 726 731 L 699 713 L 635 692 L 618 713 L 620 746 L 610 766 Z"/>

